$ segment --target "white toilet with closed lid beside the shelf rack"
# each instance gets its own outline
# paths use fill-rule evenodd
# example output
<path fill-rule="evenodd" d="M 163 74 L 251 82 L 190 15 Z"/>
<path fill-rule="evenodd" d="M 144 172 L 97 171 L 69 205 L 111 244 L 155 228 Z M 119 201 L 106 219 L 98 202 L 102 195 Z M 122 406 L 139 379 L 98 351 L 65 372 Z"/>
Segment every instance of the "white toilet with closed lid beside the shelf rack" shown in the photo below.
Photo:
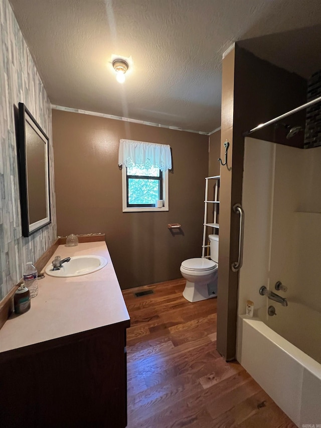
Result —
<path fill-rule="evenodd" d="M 211 260 L 203 257 L 189 258 L 181 264 L 186 278 L 183 296 L 189 302 L 199 302 L 217 296 L 219 237 L 209 235 Z"/>

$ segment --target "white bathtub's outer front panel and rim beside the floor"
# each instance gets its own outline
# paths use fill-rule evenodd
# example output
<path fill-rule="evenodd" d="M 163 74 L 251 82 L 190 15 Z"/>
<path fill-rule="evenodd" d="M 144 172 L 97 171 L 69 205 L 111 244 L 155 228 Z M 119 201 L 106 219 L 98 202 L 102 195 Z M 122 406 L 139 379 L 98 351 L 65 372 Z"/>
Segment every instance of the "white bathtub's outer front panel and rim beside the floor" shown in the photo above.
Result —
<path fill-rule="evenodd" d="M 238 317 L 237 360 L 297 426 L 321 426 L 321 364 L 245 315 Z"/>

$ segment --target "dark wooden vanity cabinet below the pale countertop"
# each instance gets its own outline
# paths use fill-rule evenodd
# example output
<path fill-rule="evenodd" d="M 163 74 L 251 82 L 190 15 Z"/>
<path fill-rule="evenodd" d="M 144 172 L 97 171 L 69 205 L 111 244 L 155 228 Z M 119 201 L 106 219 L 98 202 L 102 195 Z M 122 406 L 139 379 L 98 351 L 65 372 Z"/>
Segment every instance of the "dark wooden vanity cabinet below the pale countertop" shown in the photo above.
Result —
<path fill-rule="evenodd" d="M 129 320 L 0 354 L 0 426 L 127 424 Z"/>

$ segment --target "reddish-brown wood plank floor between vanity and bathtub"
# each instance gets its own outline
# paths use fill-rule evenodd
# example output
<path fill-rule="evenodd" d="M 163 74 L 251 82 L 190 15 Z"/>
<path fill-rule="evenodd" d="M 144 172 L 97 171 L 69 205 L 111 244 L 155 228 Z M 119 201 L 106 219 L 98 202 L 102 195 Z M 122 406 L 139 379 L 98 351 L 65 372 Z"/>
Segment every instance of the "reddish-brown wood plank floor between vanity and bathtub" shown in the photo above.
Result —
<path fill-rule="evenodd" d="M 184 287 L 178 279 L 123 291 L 128 428 L 294 428 L 240 364 L 217 352 L 217 299 L 190 303 Z M 154 294 L 133 294 L 146 290 Z"/>

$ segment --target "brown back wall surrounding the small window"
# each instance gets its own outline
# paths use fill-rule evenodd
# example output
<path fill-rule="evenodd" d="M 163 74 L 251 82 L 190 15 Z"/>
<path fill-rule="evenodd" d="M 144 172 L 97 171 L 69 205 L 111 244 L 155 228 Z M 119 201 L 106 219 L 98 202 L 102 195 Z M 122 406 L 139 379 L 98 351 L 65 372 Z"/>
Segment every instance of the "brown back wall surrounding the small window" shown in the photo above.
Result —
<path fill-rule="evenodd" d="M 52 118 L 58 235 L 105 233 L 122 289 L 181 277 L 181 262 L 202 251 L 208 136 L 60 110 Z M 120 138 L 171 146 L 168 212 L 122 212 Z"/>

